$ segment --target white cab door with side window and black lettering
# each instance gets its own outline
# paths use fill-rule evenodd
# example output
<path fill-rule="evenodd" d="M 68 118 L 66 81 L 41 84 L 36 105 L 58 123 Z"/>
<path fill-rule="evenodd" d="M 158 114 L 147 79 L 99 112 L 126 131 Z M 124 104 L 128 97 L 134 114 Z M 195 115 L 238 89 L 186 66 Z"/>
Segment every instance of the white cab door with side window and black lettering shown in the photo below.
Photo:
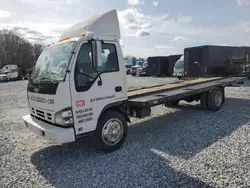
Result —
<path fill-rule="evenodd" d="M 103 43 L 101 67 L 93 69 L 92 46 L 79 46 L 73 66 L 70 88 L 76 135 L 94 131 L 102 110 L 126 99 L 125 66 L 119 67 L 118 43 Z"/>

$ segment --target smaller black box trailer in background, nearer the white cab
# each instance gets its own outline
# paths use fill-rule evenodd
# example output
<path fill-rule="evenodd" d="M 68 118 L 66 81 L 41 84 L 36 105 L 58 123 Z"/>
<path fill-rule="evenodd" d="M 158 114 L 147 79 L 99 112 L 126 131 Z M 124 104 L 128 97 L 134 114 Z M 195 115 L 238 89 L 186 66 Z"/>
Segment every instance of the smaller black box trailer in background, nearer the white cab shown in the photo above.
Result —
<path fill-rule="evenodd" d="M 172 76 L 174 65 L 182 55 L 155 56 L 148 58 L 148 74 L 150 76 Z"/>

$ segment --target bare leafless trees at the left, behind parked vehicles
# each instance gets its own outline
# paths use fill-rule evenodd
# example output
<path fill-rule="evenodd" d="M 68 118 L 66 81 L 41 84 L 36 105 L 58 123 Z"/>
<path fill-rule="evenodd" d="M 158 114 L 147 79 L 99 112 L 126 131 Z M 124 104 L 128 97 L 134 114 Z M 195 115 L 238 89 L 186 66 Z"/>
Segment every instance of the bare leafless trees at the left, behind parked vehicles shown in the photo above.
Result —
<path fill-rule="evenodd" d="M 0 30 L 0 69 L 8 64 L 31 69 L 43 48 L 43 45 L 31 44 L 12 30 Z"/>

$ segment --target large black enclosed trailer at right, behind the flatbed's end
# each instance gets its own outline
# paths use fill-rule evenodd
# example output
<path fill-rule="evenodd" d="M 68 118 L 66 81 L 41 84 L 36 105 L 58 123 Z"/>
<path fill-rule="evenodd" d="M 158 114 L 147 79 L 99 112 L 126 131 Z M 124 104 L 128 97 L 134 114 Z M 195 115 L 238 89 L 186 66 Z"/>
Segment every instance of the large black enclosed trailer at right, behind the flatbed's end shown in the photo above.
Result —
<path fill-rule="evenodd" d="M 250 47 L 198 46 L 184 49 L 185 77 L 242 76 Z"/>

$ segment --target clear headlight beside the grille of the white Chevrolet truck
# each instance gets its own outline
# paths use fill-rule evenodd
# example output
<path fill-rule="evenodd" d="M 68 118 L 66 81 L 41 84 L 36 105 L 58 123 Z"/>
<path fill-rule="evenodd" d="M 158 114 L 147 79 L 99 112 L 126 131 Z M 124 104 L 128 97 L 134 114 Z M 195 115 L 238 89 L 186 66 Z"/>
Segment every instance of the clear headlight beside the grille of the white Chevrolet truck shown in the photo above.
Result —
<path fill-rule="evenodd" d="M 70 127 L 73 126 L 73 113 L 71 108 L 63 109 L 55 114 L 55 122 L 57 125 Z"/>

